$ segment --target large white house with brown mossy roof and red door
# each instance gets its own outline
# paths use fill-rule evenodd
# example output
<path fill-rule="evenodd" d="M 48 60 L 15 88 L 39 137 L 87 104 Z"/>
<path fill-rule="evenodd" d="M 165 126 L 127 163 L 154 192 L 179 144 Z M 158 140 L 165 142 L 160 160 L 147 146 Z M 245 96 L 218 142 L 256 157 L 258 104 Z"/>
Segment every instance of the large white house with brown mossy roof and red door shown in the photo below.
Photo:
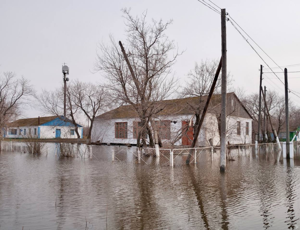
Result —
<path fill-rule="evenodd" d="M 214 146 L 220 145 L 218 119 L 220 115 L 220 94 L 212 96 L 208 112 L 205 116 L 198 137 L 198 146 L 209 146 L 212 141 Z M 202 109 L 207 97 L 191 97 L 184 99 L 165 100 L 157 103 L 158 112 L 152 122 L 158 131 L 162 142 L 174 145 L 190 145 L 193 140 L 193 127 L 188 131 L 187 124 L 195 124 L 194 114 Z M 227 140 L 230 144 L 252 143 L 252 117 L 237 98 L 235 93 L 227 93 Z M 201 115 L 200 115 L 201 116 Z M 92 141 L 114 144 L 137 144 L 137 130 L 141 122 L 132 105 L 123 105 L 114 110 L 97 116 L 93 129 Z M 183 132 L 182 132 L 183 131 Z M 153 132 L 152 132 L 153 133 Z M 182 134 L 184 133 L 184 134 Z M 149 142 L 149 137 L 146 135 Z M 210 140 L 211 139 L 211 140 Z"/>

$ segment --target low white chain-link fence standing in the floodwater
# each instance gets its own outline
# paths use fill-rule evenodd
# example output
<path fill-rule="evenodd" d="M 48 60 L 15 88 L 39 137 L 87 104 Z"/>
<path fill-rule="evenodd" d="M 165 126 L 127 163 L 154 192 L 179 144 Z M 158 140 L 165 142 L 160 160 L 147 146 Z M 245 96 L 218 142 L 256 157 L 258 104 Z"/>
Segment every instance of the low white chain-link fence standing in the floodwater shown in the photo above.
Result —
<path fill-rule="evenodd" d="M 1 141 L 1 151 L 37 153 L 36 143 Z M 280 143 L 283 149 L 283 143 Z M 294 156 L 299 156 L 300 141 L 293 142 Z M 125 146 L 95 146 L 72 143 L 44 143 L 40 153 L 54 153 L 59 157 L 90 158 L 102 161 L 131 162 L 137 164 L 155 165 L 186 165 L 201 164 L 208 161 L 217 161 L 220 156 L 219 147 L 184 148 L 184 149 L 153 149 L 128 148 Z M 266 160 L 282 158 L 282 150 L 277 143 L 248 145 L 231 145 L 226 148 L 227 160 L 241 157 L 258 157 Z"/>

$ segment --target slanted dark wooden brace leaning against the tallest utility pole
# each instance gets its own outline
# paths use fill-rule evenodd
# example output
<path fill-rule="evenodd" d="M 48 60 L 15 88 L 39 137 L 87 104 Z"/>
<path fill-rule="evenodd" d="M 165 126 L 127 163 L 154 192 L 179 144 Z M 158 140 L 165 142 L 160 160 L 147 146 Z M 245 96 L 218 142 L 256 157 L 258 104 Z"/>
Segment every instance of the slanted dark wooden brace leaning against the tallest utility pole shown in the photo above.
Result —
<path fill-rule="evenodd" d="M 197 129 L 196 129 L 196 132 L 195 132 L 195 135 L 194 135 L 194 139 L 193 139 L 191 148 L 195 148 L 195 145 L 196 145 L 196 142 L 197 142 L 197 139 L 198 139 L 198 136 L 199 136 L 199 132 L 200 132 L 201 126 L 202 126 L 202 124 L 203 124 L 203 121 L 204 121 L 204 118 L 205 118 L 205 114 L 206 114 L 207 109 L 208 109 L 209 102 L 210 102 L 210 100 L 211 100 L 211 96 L 212 96 L 212 94 L 214 93 L 214 87 L 215 87 L 216 84 L 217 84 L 218 76 L 219 76 L 220 71 L 221 71 L 221 65 L 222 65 L 222 58 L 220 59 L 220 62 L 219 62 L 219 65 L 218 65 L 216 74 L 214 75 L 214 79 L 213 79 L 213 81 L 212 81 L 212 83 L 211 83 L 211 88 L 210 88 L 210 91 L 209 91 L 209 93 L 208 93 L 207 101 L 206 101 L 205 106 L 204 106 L 204 108 L 203 108 L 202 116 L 201 116 L 201 118 L 200 118 L 198 127 L 197 127 Z"/>

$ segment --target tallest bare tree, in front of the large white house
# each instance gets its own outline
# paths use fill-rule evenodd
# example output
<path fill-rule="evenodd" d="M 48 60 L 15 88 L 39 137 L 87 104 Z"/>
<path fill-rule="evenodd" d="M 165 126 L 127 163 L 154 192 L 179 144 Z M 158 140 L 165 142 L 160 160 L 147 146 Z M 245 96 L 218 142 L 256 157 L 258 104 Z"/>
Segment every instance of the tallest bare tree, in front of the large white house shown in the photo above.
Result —
<path fill-rule="evenodd" d="M 177 80 L 172 73 L 178 49 L 173 40 L 169 40 L 165 31 L 172 20 L 163 23 L 152 19 L 146 22 L 147 13 L 134 17 L 130 9 L 122 9 L 125 19 L 126 46 L 117 43 L 110 35 L 110 46 L 99 44 L 101 51 L 94 65 L 95 71 L 104 73 L 112 92 L 112 99 L 118 104 L 131 105 L 140 119 L 137 146 L 142 138 L 146 146 L 146 133 L 153 146 L 153 117 L 163 110 L 162 100 L 168 98 L 177 87 Z M 176 51 L 170 58 L 170 52 Z M 171 76 L 170 76 L 171 75 Z"/>

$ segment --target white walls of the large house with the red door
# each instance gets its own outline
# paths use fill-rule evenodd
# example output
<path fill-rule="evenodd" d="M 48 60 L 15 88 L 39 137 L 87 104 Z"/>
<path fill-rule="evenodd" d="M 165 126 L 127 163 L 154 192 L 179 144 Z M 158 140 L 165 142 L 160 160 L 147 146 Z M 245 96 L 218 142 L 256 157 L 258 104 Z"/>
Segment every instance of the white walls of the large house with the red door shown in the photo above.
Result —
<path fill-rule="evenodd" d="M 173 116 L 161 116 L 160 120 L 172 120 L 177 121 L 176 124 L 171 122 L 171 140 L 162 140 L 162 142 L 173 141 L 178 137 L 182 128 L 182 121 L 189 120 L 192 115 L 173 115 Z M 195 122 L 195 117 L 193 122 Z M 138 121 L 135 118 L 118 118 L 118 119 L 96 119 L 93 124 L 91 139 L 92 142 L 100 141 L 101 143 L 120 143 L 120 144 L 136 144 L 137 140 L 133 138 L 133 122 Z M 237 135 L 237 121 L 241 122 L 241 135 Z M 115 138 L 115 122 L 128 122 L 128 138 L 119 139 Z M 249 122 L 249 135 L 246 135 L 246 122 Z M 227 116 L 227 141 L 230 144 L 243 144 L 251 143 L 252 137 L 252 119 Z M 220 145 L 220 137 L 218 133 L 217 119 L 214 114 L 207 114 L 199 137 L 199 146 L 209 146 L 209 139 L 213 139 L 214 146 Z M 182 140 L 179 139 L 175 142 L 175 145 L 181 145 Z"/>

